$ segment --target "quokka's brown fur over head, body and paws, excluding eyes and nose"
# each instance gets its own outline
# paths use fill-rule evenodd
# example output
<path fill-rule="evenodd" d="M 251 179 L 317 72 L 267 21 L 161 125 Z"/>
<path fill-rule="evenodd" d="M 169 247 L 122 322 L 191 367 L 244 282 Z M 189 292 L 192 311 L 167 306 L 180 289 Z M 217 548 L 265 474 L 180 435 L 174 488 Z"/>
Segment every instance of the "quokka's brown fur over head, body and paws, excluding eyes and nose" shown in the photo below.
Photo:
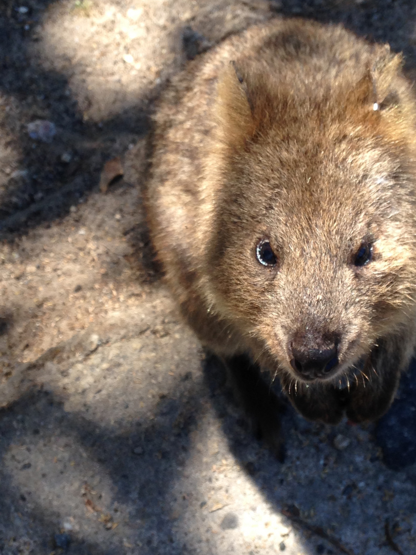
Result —
<path fill-rule="evenodd" d="M 400 68 L 342 27 L 275 20 L 191 62 L 156 116 L 146 203 L 182 314 L 312 419 L 381 416 L 413 355 L 416 112 Z M 263 237 L 275 268 L 256 259 Z M 301 379 L 288 345 L 334 333 L 335 374 Z"/>

